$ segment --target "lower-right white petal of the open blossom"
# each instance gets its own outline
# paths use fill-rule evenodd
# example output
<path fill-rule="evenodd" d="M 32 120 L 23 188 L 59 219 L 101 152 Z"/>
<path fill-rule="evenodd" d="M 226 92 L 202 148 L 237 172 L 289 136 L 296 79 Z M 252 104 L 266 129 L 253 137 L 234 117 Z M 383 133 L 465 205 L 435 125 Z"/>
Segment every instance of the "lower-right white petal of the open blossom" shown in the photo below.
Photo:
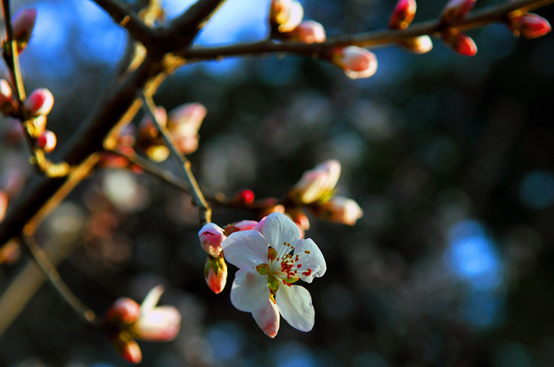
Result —
<path fill-rule="evenodd" d="M 315 311 L 312 296 L 299 285 L 281 285 L 275 296 L 281 316 L 293 328 L 307 332 L 314 327 Z"/>

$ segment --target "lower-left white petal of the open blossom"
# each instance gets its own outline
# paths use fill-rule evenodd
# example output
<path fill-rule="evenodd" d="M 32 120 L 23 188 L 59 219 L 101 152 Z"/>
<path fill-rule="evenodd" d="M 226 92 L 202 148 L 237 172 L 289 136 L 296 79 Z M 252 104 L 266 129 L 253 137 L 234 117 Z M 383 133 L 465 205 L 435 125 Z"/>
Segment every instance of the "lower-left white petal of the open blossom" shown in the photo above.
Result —
<path fill-rule="evenodd" d="M 237 310 L 244 312 L 262 310 L 269 301 L 269 295 L 267 276 L 262 276 L 252 269 L 237 271 L 231 287 L 231 303 Z"/>

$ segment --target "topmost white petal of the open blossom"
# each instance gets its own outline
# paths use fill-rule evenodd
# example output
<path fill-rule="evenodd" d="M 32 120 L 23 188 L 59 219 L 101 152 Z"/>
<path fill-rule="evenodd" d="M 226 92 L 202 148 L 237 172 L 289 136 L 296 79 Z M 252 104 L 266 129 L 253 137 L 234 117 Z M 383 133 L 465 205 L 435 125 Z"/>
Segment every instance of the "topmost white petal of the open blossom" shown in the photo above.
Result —
<path fill-rule="evenodd" d="M 262 233 L 267 243 L 277 251 L 279 256 L 289 253 L 291 251 L 290 246 L 300 240 L 298 226 L 289 217 L 281 213 L 271 213 L 267 216 Z M 288 244 L 288 246 L 285 247 L 285 244 Z"/>

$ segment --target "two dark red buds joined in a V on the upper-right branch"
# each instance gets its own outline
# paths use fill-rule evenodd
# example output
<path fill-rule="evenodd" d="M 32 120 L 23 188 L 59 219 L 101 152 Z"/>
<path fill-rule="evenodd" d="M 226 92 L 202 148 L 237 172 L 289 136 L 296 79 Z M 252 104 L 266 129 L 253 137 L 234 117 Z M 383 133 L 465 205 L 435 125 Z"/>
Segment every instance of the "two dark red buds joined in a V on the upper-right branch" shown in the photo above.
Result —
<path fill-rule="evenodd" d="M 443 41 L 454 51 L 465 56 L 477 53 L 477 46 L 472 37 L 451 27 L 465 19 L 467 13 L 475 6 L 475 0 L 450 0 L 440 15 L 440 27 L 443 28 Z"/>

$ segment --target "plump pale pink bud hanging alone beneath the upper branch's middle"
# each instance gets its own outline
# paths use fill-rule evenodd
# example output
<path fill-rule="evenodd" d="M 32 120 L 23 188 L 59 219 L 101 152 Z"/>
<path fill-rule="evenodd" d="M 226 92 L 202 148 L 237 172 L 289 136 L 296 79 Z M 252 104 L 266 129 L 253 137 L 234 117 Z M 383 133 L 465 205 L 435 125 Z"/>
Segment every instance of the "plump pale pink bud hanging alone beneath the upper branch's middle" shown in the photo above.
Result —
<path fill-rule="evenodd" d="M 350 79 L 369 78 L 377 71 L 375 54 L 358 46 L 334 48 L 330 60 L 343 69 Z"/>

